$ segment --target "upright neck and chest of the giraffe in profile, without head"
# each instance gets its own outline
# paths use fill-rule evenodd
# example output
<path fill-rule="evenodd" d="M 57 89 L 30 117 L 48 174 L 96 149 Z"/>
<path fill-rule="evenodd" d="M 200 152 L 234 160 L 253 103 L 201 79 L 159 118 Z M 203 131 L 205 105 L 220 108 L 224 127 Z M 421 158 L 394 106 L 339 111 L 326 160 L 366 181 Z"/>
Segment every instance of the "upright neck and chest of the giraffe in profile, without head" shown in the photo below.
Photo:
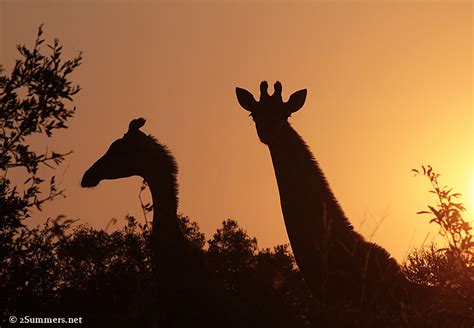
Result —
<path fill-rule="evenodd" d="M 165 313 L 164 327 L 190 326 L 190 321 L 213 320 L 216 308 L 212 301 L 214 285 L 209 279 L 205 261 L 183 234 L 177 215 L 177 165 L 171 153 L 157 144 L 144 179 L 153 198 L 152 262 L 156 270 L 159 299 Z M 177 310 L 180 309 L 180 310 Z M 217 316 L 217 318 L 220 318 Z M 185 322 L 186 324 L 183 324 Z M 226 325 L 219 325 L 219 327 Z"/>

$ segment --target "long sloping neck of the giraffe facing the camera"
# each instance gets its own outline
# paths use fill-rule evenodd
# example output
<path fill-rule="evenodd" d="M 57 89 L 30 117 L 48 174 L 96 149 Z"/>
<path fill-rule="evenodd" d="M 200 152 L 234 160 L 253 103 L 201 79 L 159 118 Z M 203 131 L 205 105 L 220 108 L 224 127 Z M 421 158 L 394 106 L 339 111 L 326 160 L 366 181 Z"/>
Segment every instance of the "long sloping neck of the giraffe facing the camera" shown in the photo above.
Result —
<path fill-rule="evenodd" d="M 289 124 L 268 147 L 296 263 L 313 294 L 320 297 L 327 252 L 333 251 L 329 245 L 353 249 L 361 237 L 347 220 L 303 139 Z"/>

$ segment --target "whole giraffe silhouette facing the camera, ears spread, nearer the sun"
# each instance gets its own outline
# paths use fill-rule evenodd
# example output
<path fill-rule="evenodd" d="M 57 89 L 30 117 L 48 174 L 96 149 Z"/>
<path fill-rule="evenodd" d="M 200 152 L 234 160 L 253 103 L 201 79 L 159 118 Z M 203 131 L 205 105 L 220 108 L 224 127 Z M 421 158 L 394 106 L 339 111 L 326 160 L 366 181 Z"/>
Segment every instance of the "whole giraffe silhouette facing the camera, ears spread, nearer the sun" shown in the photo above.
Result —
<path fill-rule="evenodd" d="M 260 84 L 260 99 L 236 88 L 239 104 L 255 122 L 270 150 L 286 230 L 296 263 L 322 307 L 350 302 L 359 309 L 400 311 L 408 284 L 398 263 L 380 246 L 357 233 L 303 139 L 288 123 L 306 100 L 306 89 L 282 100 Z"/>

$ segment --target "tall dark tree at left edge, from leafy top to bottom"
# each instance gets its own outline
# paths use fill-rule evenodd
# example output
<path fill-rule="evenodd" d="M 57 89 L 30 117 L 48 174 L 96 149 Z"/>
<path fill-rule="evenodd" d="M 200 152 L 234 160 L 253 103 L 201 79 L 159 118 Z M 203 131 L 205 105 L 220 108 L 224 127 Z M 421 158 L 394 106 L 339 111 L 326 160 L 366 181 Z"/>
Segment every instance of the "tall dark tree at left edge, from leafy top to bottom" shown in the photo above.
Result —
<path fill-rule="evenodd" d="M 43 229 L 29 230 L 24 221 L 33 208 L 63 195 L 55 177 L 49 180 L 48 192 L 39 176 L 41 165 L 55 168 L 68 153 L 46 150 L 38 153 L 30 148 L 30 138 L 40 134 L 51 137 L 54 131 L 67 128 L 75 107 L 66 106 L 79 92 L 69 75 L 81 64 L 82 57 L 62 59 L 58 40 L 47 44 L 44 55 L 43 29 L 39 27 L 33 49 L 19 45 L 18 59 L 10 74 L 0 66 L 0 288 L 2 314 L 34 304 L 36 296 L 44 303 L 54 302 L 54 282 L 57 280 L 55 245 L 71 221 L 58 217 L 48 221 Z M 23 170 L 27 178 L 13 183 L 9 173 Z M 49 298 L 47 298 L 48 296 Z M 4 316 L 6 317 L 6 316 Z"/>

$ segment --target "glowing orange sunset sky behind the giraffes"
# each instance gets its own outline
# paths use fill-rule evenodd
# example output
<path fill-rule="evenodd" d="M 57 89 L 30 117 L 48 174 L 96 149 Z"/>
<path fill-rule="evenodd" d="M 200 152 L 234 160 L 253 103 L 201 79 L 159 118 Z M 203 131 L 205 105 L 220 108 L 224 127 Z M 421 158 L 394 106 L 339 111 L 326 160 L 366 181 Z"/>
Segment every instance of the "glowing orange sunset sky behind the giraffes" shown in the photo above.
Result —
<path fill-rule="evenodd" d="M 473 206 L 470 1 L 0 0 L 0 63 L 11 68 L 15 45 L 32 45 L 41 23 L 84 62 L 73 76 L 77 114 L 49 141 L 74 150 L 57 172 L 69 165 L 67 198 L 34 222 L 142 219 L 141 179 L 79 183 L 143 116 L 179 163 L 180 212 L 207 237 L 234 218 L 261 247 L 286 243 L 268 149 L 234 94 L 257 93 L 263 79 L 280 80 L 284 97 L 308 89 L 292 125 L 359 232 L 369 237 L 384 219 L 372 240 L 397 259 L 430 231 L 415 213 L 434 199 L 412 168 L 431 164 Z"/>

